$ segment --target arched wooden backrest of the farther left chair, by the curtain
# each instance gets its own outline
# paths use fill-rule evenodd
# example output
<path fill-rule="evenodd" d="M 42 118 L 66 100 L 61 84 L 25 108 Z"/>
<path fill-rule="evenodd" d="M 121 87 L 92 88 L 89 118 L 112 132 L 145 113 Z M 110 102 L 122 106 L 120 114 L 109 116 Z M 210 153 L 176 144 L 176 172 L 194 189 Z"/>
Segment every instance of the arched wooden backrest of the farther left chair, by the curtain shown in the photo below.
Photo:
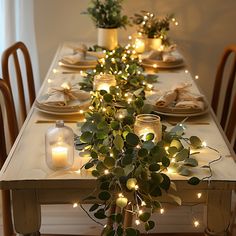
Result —
<path fill-rule="evenodd" d="M 25 67 L 25 73 L 23 71 L 23 66 L 21 62 L 21 54 L 24 58 L 24 67 Z M 13 69 L 11 68 L 10 60 L 13 59 L 14 62 L 14 80 L 12 75 Z M 31 59 L 29 55 L 29 51 L 24 43 L 22 42 L 16 42 L 9 48 L 7 48 L 2 55 L 2 76 L 3 79 L 7 81 L 10 88 L 12 89 L 12 83 L 14 81 L 17 81 L 17 90 L 18 90 L 18 98 L 19 98 L 19 107 L 20 112 L 22 113 L 22 119 L 25 120 L 27 115 L 27 102 L 26 102 L 26 96 L 24 91 L 24 81 L 27 82 L 28 87 L 28 95 L 29 95 L 29 105 L 33 104 L 35 100 L 35 86 L 34 86 L 34 77 L 33 77 L 33 70 L 32 70 L 32 64 Z M 24 76 L 27 77 L 26 80 L 23 81 Z"/>

